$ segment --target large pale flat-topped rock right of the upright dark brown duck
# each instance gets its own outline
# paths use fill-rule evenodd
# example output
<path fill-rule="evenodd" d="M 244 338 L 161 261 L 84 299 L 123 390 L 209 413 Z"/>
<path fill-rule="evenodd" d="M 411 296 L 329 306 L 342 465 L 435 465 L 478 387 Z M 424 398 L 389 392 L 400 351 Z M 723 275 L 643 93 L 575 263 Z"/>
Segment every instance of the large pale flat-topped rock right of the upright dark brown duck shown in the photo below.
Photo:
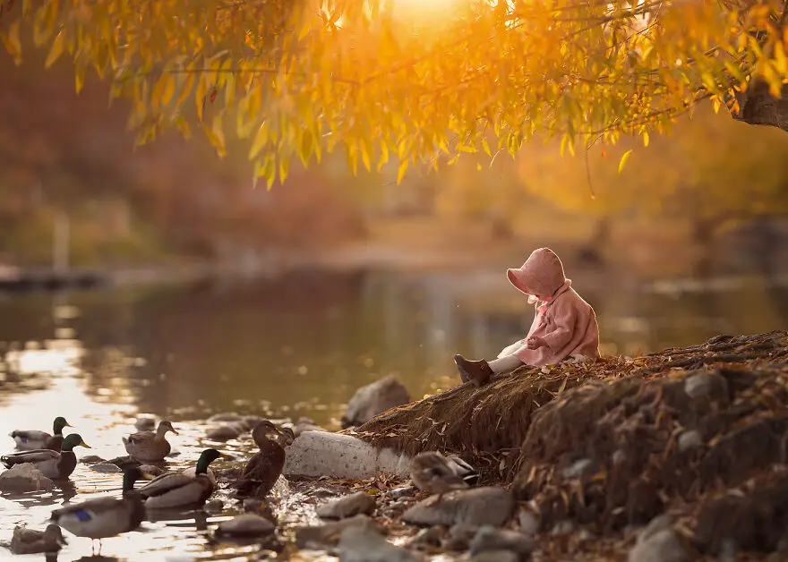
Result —
<path fill-rule="evenodd" d="M 407 478 L 410 457 L 378 450 L 362 439 L 328 431 L 304 431 L 287 447 L 282 474 L 364 480 L 380 473 Z"/>

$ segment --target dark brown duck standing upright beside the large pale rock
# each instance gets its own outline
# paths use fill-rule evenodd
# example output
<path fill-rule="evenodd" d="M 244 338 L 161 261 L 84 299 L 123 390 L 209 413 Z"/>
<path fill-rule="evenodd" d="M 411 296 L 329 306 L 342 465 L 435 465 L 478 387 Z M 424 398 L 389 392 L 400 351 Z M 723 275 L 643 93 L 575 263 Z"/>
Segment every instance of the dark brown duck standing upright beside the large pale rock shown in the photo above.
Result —
<path fill-rule="evenodd" d="M 290 433 L 292 435 L 292 432 Z M 268 420 L 260 421 L 252 430 L 252 439 L 260 448 L 244 467 L 241 477 L 233 482 L 237 497 L 256 495 L 265 497 L 274 487 L 282 466 L 285 465 L 285 449 L 282 442 L 287 437 Z M 292 441 L 291 441 L 292 442 Z"/>

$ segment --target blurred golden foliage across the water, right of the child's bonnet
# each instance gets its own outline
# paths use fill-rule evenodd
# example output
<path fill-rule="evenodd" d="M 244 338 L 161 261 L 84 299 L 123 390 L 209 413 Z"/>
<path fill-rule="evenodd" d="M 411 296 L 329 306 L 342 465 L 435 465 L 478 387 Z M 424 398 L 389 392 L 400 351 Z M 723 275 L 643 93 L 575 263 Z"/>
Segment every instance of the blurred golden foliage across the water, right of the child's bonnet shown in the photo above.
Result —
<path fill-rule="evenodd" d="M 689 219 L 722 226 L 788 212 L 788 137 L 698 108 L 670 138 L 638 151 L 621 172 L 628 138 L 615 149 L 595 148 L 559 162 L 557 151 L 533 149 L 518 158 L 527 190 L 550 194 L 563 209 L 607 217 L 638 210 L 646 217 Z"/>

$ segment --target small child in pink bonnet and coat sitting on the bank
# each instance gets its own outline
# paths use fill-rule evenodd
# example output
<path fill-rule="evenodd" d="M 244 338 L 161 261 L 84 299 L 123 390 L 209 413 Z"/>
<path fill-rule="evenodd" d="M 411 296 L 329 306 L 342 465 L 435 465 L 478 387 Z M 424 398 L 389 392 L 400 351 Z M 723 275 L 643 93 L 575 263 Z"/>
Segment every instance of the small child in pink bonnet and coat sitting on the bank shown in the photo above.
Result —
<path fill-rule="evenodd" d="M 492 375 L 523 364 L 549 365 L 575 354 L 599 357 L 594 309 L 571 288 L 572 282 L 564 277 L 561 260 L 552 250 L 533 251 L 521 268 L 509 269 L 507 275 L 512 285 L 528 295 L 528 303 L 535 303 L 534 322 L 526 338 L 506 347 L 498 359 L 469 361 L 455 355 L 463 382 L 470 380 L 481 386 Z"/>

